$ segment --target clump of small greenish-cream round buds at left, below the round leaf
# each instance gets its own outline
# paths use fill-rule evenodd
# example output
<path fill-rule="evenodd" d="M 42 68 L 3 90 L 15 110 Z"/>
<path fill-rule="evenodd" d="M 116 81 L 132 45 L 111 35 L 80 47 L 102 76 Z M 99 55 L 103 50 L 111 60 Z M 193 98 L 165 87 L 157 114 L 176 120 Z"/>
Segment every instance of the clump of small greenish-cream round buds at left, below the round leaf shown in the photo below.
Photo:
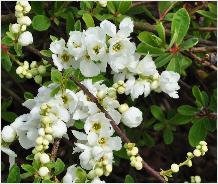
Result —
<path fill-rule="evenodd" d="M 36 61 L 32 61 L 30 64 L 28 61 L 21 63 L 22 65 L 17 67 L 16 73 L 20 78 L 31 79 L 34 78 L 37 84 L 42 83 L 42 76 L 46 73 L 46 67 L 50 66 L 46 60 L 43 60 L 41 64 Z"/>

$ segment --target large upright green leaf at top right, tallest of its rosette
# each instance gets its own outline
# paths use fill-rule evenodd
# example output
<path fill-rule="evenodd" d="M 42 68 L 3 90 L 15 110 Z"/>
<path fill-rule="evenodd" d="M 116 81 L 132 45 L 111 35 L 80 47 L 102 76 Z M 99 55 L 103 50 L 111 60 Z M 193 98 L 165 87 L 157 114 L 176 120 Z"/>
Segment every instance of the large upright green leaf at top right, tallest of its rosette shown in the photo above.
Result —
<path fill-rule="evenodd" d="M 171 35 L 177 32 L 178 36 L 175 41 L 177 45 L 180 45 L 183 38 L 186 36 L 189 29 L 190 17 L 185 8 L 179 9 L 173 16 L 171 25 Z"/>

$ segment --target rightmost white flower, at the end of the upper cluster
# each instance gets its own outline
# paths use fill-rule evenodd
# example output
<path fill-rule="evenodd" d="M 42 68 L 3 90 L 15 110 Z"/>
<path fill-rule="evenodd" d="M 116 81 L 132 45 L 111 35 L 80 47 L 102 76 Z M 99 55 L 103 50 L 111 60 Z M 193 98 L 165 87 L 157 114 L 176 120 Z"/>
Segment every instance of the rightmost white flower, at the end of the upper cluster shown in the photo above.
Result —
<path fill-rule="evenodd" d="M 177 90 L 180 75 L 172 71 L 163 71 L 160 75 L 160 89 L 172 98 L 179 98 Z"/>

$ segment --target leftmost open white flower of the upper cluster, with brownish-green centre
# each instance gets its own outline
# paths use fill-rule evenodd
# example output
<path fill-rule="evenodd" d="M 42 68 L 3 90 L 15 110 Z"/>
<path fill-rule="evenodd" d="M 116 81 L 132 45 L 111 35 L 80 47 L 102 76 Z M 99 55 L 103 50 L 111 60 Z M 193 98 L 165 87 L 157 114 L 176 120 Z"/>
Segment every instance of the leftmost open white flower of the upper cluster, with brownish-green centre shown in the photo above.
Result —
<path fill-rule="evenodd" d="M 52 59 L 54 65 L 57 66 L 59 71 L 67 69 L 71 66 L 75 66 L 75 60 L 69 54 L 68 49 L 65 47 L 64 39 L 52 42 L 50 45 L 50 50 L 54 53 L 52 54 Z"/>

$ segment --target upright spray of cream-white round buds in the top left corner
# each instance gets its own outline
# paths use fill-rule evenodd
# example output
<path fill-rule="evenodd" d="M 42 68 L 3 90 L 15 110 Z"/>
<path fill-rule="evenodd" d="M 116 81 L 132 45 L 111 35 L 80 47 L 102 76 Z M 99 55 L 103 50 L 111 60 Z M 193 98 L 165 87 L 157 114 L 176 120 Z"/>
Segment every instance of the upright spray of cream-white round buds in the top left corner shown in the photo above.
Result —
<path fill-rule="evenodd" d="M 15 16 L 17 17 L 17 23 L 10 25 L 10 31 L 14 34 L 15 39 L 21 46 L 27 46 L 33 43 L 32 33 L 26 31 L 32 21 L 26 16 L 31 10 L 31 6 L 28 1 L 17 1 L 15 6 Z"/>

